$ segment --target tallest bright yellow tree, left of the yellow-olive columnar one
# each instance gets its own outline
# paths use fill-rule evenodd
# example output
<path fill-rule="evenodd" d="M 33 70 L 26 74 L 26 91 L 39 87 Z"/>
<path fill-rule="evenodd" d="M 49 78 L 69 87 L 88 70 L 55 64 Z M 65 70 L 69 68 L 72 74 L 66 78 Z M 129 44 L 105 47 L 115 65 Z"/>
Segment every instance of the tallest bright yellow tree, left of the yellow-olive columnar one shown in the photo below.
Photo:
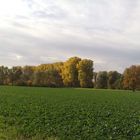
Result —
<path fill-rule="evenodd" d="M 81 58 L 72 57 L 66 61 L 62 67 L 62 79 L 64 86 L 79 87 L 78 69 L 77 64 L 81 61 Z"/>

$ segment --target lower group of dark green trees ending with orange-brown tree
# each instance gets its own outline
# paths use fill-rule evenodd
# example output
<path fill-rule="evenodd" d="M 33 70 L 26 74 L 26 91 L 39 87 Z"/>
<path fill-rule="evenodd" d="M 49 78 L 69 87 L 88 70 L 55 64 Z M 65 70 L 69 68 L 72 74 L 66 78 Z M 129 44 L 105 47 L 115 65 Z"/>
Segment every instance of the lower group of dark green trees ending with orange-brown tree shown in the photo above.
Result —
<path fill-rule="evenodd" d="M 101 89 L 140 90 L 140 65 L 132 65 L 121 74 L 117 71 L 94 73 L 94 87 Z"/>

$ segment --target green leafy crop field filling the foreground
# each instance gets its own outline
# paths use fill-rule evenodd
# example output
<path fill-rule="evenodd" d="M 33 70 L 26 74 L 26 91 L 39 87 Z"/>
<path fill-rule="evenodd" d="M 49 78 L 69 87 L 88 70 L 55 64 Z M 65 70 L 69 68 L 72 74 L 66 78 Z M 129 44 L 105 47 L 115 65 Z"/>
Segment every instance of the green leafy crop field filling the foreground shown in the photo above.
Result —
<path fill-rule="evenodd" d="M 140 139 L 140 92 L 0 87 L 0 140 Z"/>

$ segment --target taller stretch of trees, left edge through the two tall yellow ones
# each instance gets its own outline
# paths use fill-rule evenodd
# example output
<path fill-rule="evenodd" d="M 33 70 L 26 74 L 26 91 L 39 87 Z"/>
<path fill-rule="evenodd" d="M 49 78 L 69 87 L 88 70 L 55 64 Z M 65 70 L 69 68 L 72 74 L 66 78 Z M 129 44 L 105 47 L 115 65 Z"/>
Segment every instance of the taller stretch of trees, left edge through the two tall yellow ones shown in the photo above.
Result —
<path fill-rule="evenodd" d="M 39 66 L 0 67 L 0 85 L 93 87 L 93 61 L 72 57 Z"/>

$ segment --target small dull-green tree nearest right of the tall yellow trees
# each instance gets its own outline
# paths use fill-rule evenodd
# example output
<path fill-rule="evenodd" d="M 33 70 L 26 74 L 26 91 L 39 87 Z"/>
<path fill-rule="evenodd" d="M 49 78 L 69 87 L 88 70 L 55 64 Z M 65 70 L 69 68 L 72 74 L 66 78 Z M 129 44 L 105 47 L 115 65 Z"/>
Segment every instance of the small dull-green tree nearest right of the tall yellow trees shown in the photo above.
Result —
<path fill-rule="evenodd" d="M 97 74 L 96 78 L 96 88 L 107 88 L 107 82 L 108 82 L 108 73 L 106 71 L 100 71 Z"/>

